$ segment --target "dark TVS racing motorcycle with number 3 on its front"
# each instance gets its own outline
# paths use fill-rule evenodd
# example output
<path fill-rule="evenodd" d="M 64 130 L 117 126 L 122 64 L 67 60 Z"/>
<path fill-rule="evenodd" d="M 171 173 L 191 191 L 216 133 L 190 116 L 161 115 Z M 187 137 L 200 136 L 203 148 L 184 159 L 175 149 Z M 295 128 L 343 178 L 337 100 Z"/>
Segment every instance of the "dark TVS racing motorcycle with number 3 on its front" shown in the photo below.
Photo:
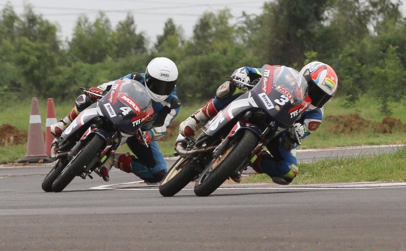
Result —
<path fill-rule="evenodd" d="M 247 169 L 309 107 L 307 82 L 295 69 L 265 64 L 261 72 L 255 85 L 229 78 L 250 91 L 208 121 L 195 140 L 178 136 L 175 150 L 180 157 L 159 186 L 162 196 L 175 195 L 193 180 L 197 196 L 210 195 Z M 297 134 L 296 142 L 300 144 Z"/>

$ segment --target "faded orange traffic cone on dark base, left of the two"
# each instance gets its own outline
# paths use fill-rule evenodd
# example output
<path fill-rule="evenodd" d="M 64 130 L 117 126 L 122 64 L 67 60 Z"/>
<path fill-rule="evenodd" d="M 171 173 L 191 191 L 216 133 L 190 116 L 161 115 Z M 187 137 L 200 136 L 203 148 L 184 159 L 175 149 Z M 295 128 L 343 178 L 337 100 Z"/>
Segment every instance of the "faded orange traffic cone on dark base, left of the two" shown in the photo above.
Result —
<path fill-rule="evenodd" d="M 31 100 L 31 113 L 29 116 L 27 154 L 18 162 L 51 162 L 45 153 L 44 134 L 42 133 L 40 107 L 38 100 Z"/>

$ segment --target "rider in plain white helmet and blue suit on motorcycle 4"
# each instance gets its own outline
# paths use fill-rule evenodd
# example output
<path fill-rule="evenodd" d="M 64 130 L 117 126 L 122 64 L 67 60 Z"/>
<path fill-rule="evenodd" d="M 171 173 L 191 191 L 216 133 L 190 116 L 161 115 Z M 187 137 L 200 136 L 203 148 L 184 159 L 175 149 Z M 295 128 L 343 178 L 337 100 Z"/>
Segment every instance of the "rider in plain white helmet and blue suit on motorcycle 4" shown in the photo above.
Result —
<path fill-rule="evenodd" d="M 127 138 L 127 146 L 137 157 L 126 153 L 116 159 L 112 155 L 100 168 L 100 175 L 108 182 L 109 170 L 115 165 L 122 171 L 136 174 L 147 183 L 157 183 L 165 175 L 167 168 L 156 141 L 166 134 L 166 129 L 177 117 L 181 105 L 175 85 L 178 79 L 178 68 L 171 59 L 157 57 L 149 62 L 145 73 L 134 72 L 120 78 L 122 79 L 137 80 L 146 86 L 147 93 L 152 99 L 154 114 L 142 126 L 143 135 L 137 133 Z M 80 95 L 72 111 L 58 123 L 50 126 L 51 133 L 59 137 L 79 113 L 107 93 L 113 83 L 114 81 L 110 81 L 89 88 L 89 91 L 96 95 L 88 93 Z M 145 145 L 143 138 L 148 146 Z"/>

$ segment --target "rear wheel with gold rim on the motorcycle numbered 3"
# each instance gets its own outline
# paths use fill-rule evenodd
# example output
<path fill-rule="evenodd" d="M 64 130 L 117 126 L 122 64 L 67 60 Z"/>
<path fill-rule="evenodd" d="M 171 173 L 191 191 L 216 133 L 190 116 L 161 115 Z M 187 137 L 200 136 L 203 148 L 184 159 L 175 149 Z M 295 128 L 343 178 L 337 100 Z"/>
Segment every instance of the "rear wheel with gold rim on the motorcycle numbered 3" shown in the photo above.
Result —
<path fill-rule="evenodd" d="M 193 181 L 197 174 L 191 166 L 191 158 L 180 157 L 163 177 L 159 193 L 163 197 L 172 197 Z"/>

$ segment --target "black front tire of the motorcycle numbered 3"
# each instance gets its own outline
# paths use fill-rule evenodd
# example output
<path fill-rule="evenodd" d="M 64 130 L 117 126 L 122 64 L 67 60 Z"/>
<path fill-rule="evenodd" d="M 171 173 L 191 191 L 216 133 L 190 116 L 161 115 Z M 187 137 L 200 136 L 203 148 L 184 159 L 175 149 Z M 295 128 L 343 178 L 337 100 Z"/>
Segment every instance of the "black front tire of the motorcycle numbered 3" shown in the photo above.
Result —
<path fill-rule="evenodd" d="M 251 130 L 245 130 L 242 137 L 236 137 L 229 147 L 217 159 L 214 159 L 200 174 L 194 185 L 194 194 L 209 196 L 236 171 L 236 168 L 246 162 L 258 144 L 258 136 Z"/>

